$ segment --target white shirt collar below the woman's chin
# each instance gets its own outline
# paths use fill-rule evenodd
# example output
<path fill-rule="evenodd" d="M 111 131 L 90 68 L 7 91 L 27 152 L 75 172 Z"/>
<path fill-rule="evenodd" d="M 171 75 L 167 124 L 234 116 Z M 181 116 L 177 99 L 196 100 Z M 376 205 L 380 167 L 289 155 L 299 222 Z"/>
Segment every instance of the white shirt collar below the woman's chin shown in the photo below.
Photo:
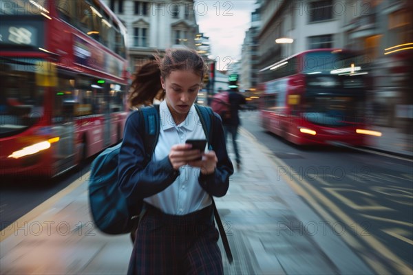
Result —
<path fill-rule="evenodd" d="M 171 129 L 175 126 L 184 127 L 185 129 L 192 131 L 195 128 L 195 124 L 199 122 L 198 114 L 196 113 L 196 109 L 195 106 L 193 106 L 193 104 L 191 106 L 191 109 L 189 109 L 187 118 L 185 118 L 185 120 L 181 122 L 179 125 L 176 125 L 173 121 L 171 111 L 169 111 L 166 100 L 160 102 L 159 113 L 160 125 L 164 131 Z"/>

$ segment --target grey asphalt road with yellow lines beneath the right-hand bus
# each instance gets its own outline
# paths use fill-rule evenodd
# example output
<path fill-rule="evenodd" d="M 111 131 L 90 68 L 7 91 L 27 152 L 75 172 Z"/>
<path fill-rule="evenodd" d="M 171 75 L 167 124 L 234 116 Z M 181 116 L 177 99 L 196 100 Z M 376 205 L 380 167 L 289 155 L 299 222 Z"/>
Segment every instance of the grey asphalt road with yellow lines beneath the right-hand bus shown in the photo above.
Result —
<path fill-rule="evenodd" d="M 263 131 L 257 111 L 241 118 L 241 131 L 273 155 L 277 175 L 373 270 L 412 270 L 412 162 L 349 148 L 300 148 Z M 309 233 L 315 228 L 304 225 Z"/>

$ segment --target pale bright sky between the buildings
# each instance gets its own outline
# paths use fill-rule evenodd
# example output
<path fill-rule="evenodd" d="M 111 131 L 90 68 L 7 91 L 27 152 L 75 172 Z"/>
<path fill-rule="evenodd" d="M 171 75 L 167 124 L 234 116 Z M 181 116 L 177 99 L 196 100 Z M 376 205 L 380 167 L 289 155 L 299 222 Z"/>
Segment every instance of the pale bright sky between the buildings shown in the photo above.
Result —
<path fill-rule="evenodd" d="M 255 0 L 195 0 L 199 30 L 209 37 L 211 58 L 217 69 L 227 69 L 241 57 L 245 32 L 251 27 Z"/>

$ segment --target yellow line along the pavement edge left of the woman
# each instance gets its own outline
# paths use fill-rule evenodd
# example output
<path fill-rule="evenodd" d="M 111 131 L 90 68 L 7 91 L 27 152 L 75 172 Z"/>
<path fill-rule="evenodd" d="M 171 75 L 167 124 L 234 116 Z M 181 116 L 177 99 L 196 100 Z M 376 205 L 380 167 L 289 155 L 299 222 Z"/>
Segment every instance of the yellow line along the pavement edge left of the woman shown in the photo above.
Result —
<path fill-rule="evenodd" d="M 49 199 L 43 201 L 43 203 L 39 204 L 39 206 L 36 206 L 30 212 L 28 212 L 27 214 L 24 214 L 22 217 L 17 219 L 17 221 L 14 221 L 8 227 L 1 230 L 1 232 L 0 232 L 0 242 L 7 239 L 8 236 L 10 236 L 12 234 L 15 234 L 17 232 L 17 230 L 19 230 L 19 228 L 23 227 L 23 226 L 20 226 L 20 227 L 14 228 L 14 225 L 25 224 L 25 223 L 28 223 L 29 221 L 34 220 L 40 214 L 42 214 L 43 212 L 45 212 L 46 210 L 51 208 L 57 201 L 59 201 L 59 199 L 65 197 L 65 195 L 69 194 L 74 189 L 78 188 L 78 186 L 81 186 L 85 182 L 84 179 L 87 179 L 89 177 L 89 173 L 90 172 L 87 172 L 85 175 L 82 175 L 81 177 L 76 179 L 72 184 L 70 184 L 69 186 L 67 186 L 63 190 L 60 190 L 59 192 L 57 192 L 56 195 L 54 195 L 53 197 L 50 197 Z M 12 228 L 10 228 L 10 226 L 12 226 L 14 228 L 14 230 L 12 230 Z"/>

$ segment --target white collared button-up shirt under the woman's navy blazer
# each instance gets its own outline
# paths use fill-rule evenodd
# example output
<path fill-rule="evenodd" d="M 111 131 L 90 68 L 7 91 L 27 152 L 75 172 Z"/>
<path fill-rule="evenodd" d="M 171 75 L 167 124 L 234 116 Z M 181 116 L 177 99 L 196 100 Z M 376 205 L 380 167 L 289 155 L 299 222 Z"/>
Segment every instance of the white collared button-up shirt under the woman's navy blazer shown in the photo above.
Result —
<path fill-rule="evenodd" d="M 174 144 L 183 144 L 189 139 L 205 139 L 200 118 L 192 106 L 187 118 L 176 125 L 164 100 L 160 103 L 160 131 L 152 160 L 167 157 Z M 180 167 L 180 175 L 162 192 L 145 198 L 167 214 L 183 215 L 201 210 L 211 205 L 211 197 L 198 183 L 200 168 L 185 165 Z"/>

